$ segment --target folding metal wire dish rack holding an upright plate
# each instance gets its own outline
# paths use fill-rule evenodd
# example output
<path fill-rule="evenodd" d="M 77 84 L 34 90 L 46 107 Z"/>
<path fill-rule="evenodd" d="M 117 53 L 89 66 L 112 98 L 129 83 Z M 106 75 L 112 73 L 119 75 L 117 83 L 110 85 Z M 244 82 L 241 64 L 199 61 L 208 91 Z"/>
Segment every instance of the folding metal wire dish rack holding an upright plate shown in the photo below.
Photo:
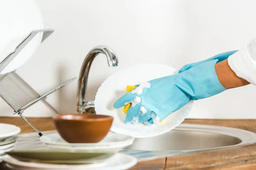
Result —
<path fill-rule="evenodd" d="M 0 72 L 9 65 L 13 59 L 23 50 L 24 47 L 37 35 L 42 34 L 41 43 L 47 39 L 52 33 L 53 29 L 39 29 L 31 31 L 21 42 L 14 51 L 12 51 L 8 56 L 6 56 L 0 62 Z M 16 71 L 16 70 L 15 70 Z M 39 136 L 43 134 L 35 128 L 24 116 L 23 112 L 34 105 L 38 101 L 42 101 L 47 107 L 52 109 L 56 114 L 59 114 L 55 108 L 52 107 L 45 99 L 49 94 L 57 91 L 63 86 L 72 82 L 76 77 L 69 79 L 62 85 L 52 89 L 44 95 L 38 94 L 28 83 L 26 83 L 15 71 L 7 74 L 0 75 L 0 96 L 3 100 L 8 103 L 8 105 L 14 110 L 13 114 L 18 114 L 22 119 L 24 119 L 37 133 Z"/>

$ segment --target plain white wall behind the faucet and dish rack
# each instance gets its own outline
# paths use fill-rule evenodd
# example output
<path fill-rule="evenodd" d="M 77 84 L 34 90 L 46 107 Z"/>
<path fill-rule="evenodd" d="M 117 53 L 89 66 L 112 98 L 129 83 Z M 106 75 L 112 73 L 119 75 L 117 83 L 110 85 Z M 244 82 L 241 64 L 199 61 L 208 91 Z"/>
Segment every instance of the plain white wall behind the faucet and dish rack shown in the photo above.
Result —
<path fill-rule="evenodd" d="M 108 45 L 119 57 L 119 67 L 108 68 L 98 56 L 89 77 L 89 99 L 115 71 L 134 62 L 162 63 L 177 69 L 215 54 L 236 50 L 256 37 L 255 0 L 36 0 L 45 28 L 55 32 L 17 72 L 40 94 L 78 77 L 87 52 Z M 37 74 L 32 75 L 31 73 Z M 61 113 L 75 113 L 72 82 L 47 101 Z M 256 118 L 256 87 L 225 91 L 195 101 L 189 118 Z M 2 116 L 12 110 L 0 103 Z M 24 116 L 54 116 L 42 103 Z"/>

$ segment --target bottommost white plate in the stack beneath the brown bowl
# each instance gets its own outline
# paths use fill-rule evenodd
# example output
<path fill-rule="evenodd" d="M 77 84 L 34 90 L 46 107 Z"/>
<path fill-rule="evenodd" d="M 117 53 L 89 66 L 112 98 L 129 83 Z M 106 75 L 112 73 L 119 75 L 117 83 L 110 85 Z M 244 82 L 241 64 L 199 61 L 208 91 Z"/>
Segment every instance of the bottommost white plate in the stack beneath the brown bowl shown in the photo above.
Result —
<path fill-rule="evenodd" d="M 136 158 L 123 153 L 116 153 L 102 167 L 101 164 L 65 165 L 23 162 L 8 155 L 3 156 L 3 161 L 6 162 L 7 167 L 15 170 L 127 170 L 137 164 Z"/>

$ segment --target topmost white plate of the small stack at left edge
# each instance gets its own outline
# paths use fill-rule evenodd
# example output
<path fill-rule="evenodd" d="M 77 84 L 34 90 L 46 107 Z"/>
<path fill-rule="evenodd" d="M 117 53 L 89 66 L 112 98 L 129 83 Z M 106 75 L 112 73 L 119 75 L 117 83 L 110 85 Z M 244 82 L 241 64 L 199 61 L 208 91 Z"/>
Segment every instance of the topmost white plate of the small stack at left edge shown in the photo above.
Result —
<path fill-rule="evenodd" d="M 0 139 L 5 139 L 20 133 L 20 127 L 15 125 L 0 123 Z"/>

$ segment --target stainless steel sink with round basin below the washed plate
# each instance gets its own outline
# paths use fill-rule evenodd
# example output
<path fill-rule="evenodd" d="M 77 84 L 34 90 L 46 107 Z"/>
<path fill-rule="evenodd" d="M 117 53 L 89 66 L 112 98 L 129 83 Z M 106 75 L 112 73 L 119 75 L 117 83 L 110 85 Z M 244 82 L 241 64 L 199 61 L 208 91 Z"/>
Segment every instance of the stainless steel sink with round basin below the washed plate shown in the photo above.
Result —
<path fill-rule="evenodd" d="M 246 146 L 256 143 L 256 134 L 231 127 L 180 124 L 159 136 L 137 138 L 123 152 L 140 160 L 176 156 L 206 150 Z"/>

